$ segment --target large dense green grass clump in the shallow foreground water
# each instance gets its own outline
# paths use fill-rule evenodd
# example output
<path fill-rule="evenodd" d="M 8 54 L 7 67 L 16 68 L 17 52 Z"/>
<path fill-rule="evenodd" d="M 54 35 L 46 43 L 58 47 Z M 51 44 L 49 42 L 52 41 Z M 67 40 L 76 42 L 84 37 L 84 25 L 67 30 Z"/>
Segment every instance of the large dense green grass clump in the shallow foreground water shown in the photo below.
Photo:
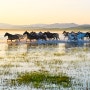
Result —
<path fill-rule="evenodd" d="M 47 71 L 37 71 L 19 74 L 16 79 L 16 83 L 18 83 L 18 85 L 32 84 L 35 88 L 44 87 L 45 84 L 55 84 L 62 85 L 63 87 L 70 87 L 71 78 L 63 74 L 51 75 Z"/>

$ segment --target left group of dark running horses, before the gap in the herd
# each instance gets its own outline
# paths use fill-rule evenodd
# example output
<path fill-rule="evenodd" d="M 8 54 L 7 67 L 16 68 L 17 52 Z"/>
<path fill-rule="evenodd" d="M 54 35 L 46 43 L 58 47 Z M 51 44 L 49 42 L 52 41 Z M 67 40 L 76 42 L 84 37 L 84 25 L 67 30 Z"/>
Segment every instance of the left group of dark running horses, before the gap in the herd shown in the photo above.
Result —
<path fill-rule="evenodd" d="M 60 40 L 58 33 L 51 33 L 49 31 L 44 32 L 44 33 L 42 33 L 41 31 L 39 33 L 36 33 L 36 32 L 33 32 L 33 31 L 29 33 L 28 31 L 25 31 L 23 33 L 23 35 L 21 35 L 21 34 L 12 35 L 12 34 L 6 32 L 4 37 L 5 36 L 8 36 L 7 41 L 8 40 L 11 40 L 11 41 L 12 40 L 19 40 L 20 41 L 21 39 L 24 39 L 26 36 L 27 36 L 26 41 L 28 39 L 30 41 L 32 41 L 32 40 L 40 40 L 40 39 L 42 39 L 42 40 L 50 40 L 50 39 Z"/>

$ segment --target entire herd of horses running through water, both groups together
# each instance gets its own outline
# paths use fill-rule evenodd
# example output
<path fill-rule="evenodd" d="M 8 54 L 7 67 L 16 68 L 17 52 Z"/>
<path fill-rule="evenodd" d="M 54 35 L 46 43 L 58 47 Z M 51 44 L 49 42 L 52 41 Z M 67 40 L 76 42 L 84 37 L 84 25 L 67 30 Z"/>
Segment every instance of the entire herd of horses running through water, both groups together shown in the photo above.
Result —
<path fill-rule="evenodd" d="M 66 32 L 66 31 L 63 31 L 62 33 L 64 35 L 64 39 L 67 37 L 68 40 L 79 40 L 79 39 L 82 39 L 84 40 L 84 37 L 87 37 L 88 39 L 90 39 L 90 32 L 86 32 L 86 33 L 83 33 L 83 32 Z M 39 32 L 39 33 L 36 33 L 36 32 L 28 32 L 28 31 L 25 31 L 23 34 L 10 34 L 8 32 L 5 33 L 4 37 L 5 36 L 8 36 L 8 40 L 21 40 L 21 39 L 24 39 L 26 36 L 26 41 L 27 40 L 60 40 L 60 37 L 59 37 L 59 34 L 58 33 L 51 33 L 49 31 L 47 32 Z"/>

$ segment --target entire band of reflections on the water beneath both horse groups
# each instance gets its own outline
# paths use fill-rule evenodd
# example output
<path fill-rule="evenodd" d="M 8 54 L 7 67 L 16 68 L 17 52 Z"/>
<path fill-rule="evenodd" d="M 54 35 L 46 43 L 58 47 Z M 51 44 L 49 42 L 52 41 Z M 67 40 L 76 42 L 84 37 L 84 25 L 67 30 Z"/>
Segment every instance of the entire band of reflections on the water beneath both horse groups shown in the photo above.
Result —
<path fill-rule="evenodd" d="M 90 47 L 90 43 L 80 43 L 80 42 L 68 42 L 68 43 L 59 43 L 59 44 L 47 44 L 47 45 L 39 45 L 39 44 L 30 44 L 30 43 L 20 43 L 20 42 L 8 42 L 6 48 L 7 55 L 16 55 L 20 53 L 32 54 L 34 53 L 42 53 L 42 52 L 66 52 L 68 48 L 75 47 Z"/>

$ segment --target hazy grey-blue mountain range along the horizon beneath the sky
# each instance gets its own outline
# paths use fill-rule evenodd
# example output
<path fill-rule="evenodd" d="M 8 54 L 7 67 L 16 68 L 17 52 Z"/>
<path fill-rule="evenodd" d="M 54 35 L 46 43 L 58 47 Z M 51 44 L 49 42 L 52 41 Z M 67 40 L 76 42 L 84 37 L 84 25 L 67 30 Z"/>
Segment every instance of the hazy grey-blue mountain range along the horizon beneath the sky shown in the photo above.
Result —
<path fill-rule="evenodd" d="M 53 23 L 53 24 L 32 24 L 32 25 L 11 25 L 0 23 L 0 29 L 90 29 L 90 24 L 78 25 L 75 23 Z"/>

